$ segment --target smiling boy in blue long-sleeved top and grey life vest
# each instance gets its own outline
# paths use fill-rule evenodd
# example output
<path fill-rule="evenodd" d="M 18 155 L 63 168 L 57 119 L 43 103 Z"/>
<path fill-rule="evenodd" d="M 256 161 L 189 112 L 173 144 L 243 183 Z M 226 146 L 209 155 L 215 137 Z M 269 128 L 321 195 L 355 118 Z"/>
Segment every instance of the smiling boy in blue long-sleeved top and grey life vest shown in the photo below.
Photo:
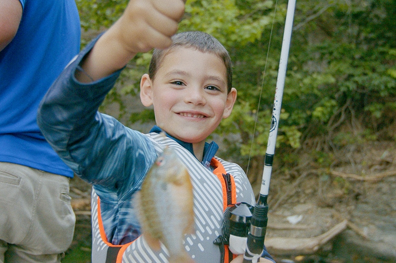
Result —
<path fill-rule="evenodd" d="M 142 240 L 132 200 L 165 147 L 177 152 L 191 174 L 196 232 L 186 236 L 185 247 L 194 261 L 220 262 L 213 241 L 221 234 L 227 202 L 254 203 L 242 169 L 214 158 L 217 145 L 205 142 L 236 100 L 228 52 L 200 32 L 171 39 L 183 12 L 181 0 L 131 0 L 120 19 L 64 70 L 40 106 L 38 123 L 49 143 L 94 185 L 95 263 L 111 257 L 117 262 L 167 261 L 166 250 L 152 251 Z M 149 74 L 142 76 L 140 95 L 143 105 L 153 105 L 156 126 L 144 135 L 97 110 L 121 69 L 151 48 L 157 49 Z M 232 200 L 223 196 L 228 184 Z"/>

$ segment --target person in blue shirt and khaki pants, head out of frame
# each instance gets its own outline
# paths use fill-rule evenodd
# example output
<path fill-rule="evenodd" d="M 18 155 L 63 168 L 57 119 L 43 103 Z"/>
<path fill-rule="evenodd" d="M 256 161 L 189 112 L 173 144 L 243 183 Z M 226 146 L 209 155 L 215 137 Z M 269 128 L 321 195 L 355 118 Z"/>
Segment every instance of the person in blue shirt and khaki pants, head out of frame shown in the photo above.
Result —
<path fill-rule="evenodd" d="M 0 262 L 60 262 L 73 239 L 72 170 L 37 126 L 80 50 L 74 0 L 0 0 Z"/>

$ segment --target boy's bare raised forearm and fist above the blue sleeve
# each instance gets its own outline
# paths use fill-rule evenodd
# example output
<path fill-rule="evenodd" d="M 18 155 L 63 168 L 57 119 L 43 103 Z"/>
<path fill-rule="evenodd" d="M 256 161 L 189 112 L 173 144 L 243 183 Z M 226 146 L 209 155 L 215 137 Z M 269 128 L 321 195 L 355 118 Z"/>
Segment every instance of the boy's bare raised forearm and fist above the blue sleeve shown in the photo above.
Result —
<path fill-rule="evenodd" d="M 83 61 L 81 82 L 123 68 L 137 53 L 166 48 L 184 14 L 185 0 L 130 0 L 122 16 L 97 41 Z M 91 78 L 89 78 L 89 75 Z"/>

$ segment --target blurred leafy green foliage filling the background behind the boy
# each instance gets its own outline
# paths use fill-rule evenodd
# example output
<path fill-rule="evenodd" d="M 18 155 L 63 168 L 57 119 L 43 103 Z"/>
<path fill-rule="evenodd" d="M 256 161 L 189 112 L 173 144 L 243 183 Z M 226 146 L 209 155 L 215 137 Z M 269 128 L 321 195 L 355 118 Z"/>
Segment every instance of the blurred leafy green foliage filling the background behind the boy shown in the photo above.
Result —
<path fill-rule="evenodd" d="M 119 17 L 127 0 L 77 4 L 82 27 L 102 30 Z M 278 3 L 274 15 L 272 0 L 188 0 L 179 26 L 212 34 L 230 52 L 238 100 L 216 133 L 241 158 L 260 157 L 266 150 L 286 5 Z M 378 139 L 395 123 L 395 15 L 392 0 L 297 1 L 277 140 L 285 160 L 304 140 L 326 138 L 345 146 Z M 141 54 L 128 65 L 108 104 L 122 105 L 125 95 L 137 94 L 149 58 L 150 53 Z M 152 120 L 153 113 L 133 113 L 129 119 Z M 355 122 L 359 125 L 351 125 Z M 238 139 L 229 140 L 231 134 Z M 327 164 L 325 159 L 317 161 Z"/>

